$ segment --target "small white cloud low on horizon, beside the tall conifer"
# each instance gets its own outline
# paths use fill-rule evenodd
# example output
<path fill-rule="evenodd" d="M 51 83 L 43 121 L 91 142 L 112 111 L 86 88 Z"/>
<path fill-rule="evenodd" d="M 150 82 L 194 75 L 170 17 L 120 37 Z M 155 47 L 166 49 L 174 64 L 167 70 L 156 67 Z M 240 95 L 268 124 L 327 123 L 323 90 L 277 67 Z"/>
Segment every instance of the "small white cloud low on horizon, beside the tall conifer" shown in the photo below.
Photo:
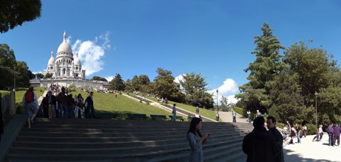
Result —
<path fill-rule="evenodd" d="M 217 102 L 217 90 L 218 90 L 218 102 L 220 102 L 220 100 L 222 99 L 222 96 L 224 97 L 228 96 L 227 100 L 229 103 L 231 102 L 237 103 L 238 100 L 234 98 L 234 95 L 229 95 L 238 91 L 238 85 L 236 82 L 234 82 L 234 80 L 228 78 L 223 82 L 223 85 L 221 85 L 220 87 L 214 88 L 208 91 L 209 93 L 213 94 L 213 98 L 215 99 L 215 102 Z"/>

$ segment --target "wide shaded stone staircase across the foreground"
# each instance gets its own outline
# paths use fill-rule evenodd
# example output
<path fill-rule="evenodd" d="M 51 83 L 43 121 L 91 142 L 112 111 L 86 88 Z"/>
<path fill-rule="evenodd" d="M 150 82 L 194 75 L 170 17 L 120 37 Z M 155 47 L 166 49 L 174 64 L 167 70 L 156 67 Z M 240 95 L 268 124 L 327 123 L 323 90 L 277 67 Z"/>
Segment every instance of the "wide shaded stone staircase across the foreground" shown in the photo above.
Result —
<path fill-rule="evenodd" d="M 6 161 L 188 161 L 189 122 L 38 118 L 24 128 Z M 251 124 L 203 122 L 205 161 L 246 161 Z"/>

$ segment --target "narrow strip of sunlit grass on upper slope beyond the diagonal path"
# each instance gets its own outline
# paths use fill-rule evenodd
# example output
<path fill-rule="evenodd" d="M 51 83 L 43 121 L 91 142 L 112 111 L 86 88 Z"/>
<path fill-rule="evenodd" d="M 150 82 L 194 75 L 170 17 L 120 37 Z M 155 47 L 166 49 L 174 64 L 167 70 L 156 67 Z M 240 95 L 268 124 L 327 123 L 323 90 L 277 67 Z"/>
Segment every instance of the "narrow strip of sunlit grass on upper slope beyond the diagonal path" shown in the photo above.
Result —
<path fill-rule="evenodd" d="M 130 93 L 130 95 L 135 95 L 134 93 Z M 157 102 L 157 99 L 155 97 L 147 97 L 147 95 L 144 95 L 144 97 L 146 97 L 147 99 L 151 99 L 153 100 L 154 102 Z M 161 99 L 160 99 L 160 102 L 161 102 Z M 188 112 L 193 112 L 195 113 L 195 108 L 196 107 L 193 107 L 193 106 L 190 106 L 188 104 L 182 104 L 182 103 L 178 103 L 178 102 L 172 102 L 170 100 L 168 100 L 168 104 L 176 104 L 176 107 L 180 107 L 181 109 L 185 109 L 187 110 Z M 216 117 L 216 112 L 215 111 L 212 111 L 212 110 L 209 110 L 209 109 L 202 109 L 200 108 L 199 110 L 199 114 L 201 116 L 204 116 L 204 117 L 207 117 L 207 118 L 210 118 L 210 119 L 213 119 L 215 120 L 215 117 Z M 221 121 L 221 119 L 220 119 Z"/>

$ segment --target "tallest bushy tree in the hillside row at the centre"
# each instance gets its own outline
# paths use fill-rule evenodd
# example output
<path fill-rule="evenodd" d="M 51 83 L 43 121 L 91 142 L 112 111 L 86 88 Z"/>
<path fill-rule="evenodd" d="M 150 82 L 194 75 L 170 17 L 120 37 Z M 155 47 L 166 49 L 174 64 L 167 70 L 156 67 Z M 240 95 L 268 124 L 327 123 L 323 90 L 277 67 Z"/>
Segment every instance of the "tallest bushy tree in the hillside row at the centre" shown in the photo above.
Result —
<path fill-rule="evenodd" d="M 153 83 L 153 91 L 159 97 L 168 97 L 169 100 L 175 102 L 183 102 L 184 95 L 180 92 L 180 85 L 174 82 L 172 72 L 158 68 L 156 70 L 158 76 L 155 77 Z"/>

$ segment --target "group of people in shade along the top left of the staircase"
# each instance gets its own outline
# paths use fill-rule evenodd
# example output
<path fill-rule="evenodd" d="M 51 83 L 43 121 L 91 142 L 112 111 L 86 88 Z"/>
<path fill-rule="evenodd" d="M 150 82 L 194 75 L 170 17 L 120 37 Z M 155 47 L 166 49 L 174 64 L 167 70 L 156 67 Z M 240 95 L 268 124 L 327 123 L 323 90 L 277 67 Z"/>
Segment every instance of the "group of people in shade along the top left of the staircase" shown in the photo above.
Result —
<path fill-rule="evenodd" d="M 68 95 L 65 87 L 61 88 L 59 93 L 53 94 L 51 90 L 43 98 L 41 103 L 43 117 L 55 119 L 65 118 L 83 118 L 82 112 L 85 108 L 85 117 L 87 119 L 97 119 L 98 117 L 94 112 L 94 92 L 90 92 L 90 95 L 84 100 L 82 95 L 79 94 L 74 99 L 72 94 Z M 28 128 L 31 128 L 31 123 L 38 113 L 38 97 L 33 92 L 33 86 L 29 87 L 28 91 L 23 95 L 23 107 L 26 109 L 26 116 L 28 117 Z"/>

